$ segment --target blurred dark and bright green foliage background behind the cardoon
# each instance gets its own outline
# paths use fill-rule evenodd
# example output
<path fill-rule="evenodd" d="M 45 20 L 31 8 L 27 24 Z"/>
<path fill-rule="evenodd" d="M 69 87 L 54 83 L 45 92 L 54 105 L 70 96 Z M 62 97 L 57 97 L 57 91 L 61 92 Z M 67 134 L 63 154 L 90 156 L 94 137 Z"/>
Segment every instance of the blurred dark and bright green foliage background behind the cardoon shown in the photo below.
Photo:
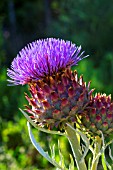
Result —
<path fill-rule="evenodd" d="M 26 120 L 18 109 L 26 104 L 27 86 L 7 86 L 6 70 L 18 51 L 44 37 L 68 39 L 82 45 L 90 56 L 74 69 L 84 75 L 86 82 L 91 80 L 95 92 L 113 96 L 112 30 L 112 1 L 0 1 L 0 169 L 54 169 L 31 145 Z M 36 130 L 34 134 L 45 150 L 49 149 L 47 143 L 57 144 L 57 136 Z M 68 163 L 70 147 L 64 138 L 60 140 Z"/>

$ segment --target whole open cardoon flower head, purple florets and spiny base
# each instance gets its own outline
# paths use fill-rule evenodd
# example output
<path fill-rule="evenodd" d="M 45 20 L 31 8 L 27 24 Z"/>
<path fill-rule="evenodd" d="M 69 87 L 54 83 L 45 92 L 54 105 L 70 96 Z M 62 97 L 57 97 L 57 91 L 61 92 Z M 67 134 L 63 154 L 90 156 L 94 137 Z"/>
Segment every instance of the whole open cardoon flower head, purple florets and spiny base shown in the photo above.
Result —
<path fill-rule="evenodd" d="M 31 97 L 26 110 L 39 126 L 63 127 L 75 122 L 76 114 L 89 103 L 89 84 L 71 71 L 84 58 L 70 41 L 54 38 L 38 40 L 22 49 L 13 60 L 8 76 L 14 85 L 28 84 Z M 86 56 L 85 56 L 86 57 Z"/>

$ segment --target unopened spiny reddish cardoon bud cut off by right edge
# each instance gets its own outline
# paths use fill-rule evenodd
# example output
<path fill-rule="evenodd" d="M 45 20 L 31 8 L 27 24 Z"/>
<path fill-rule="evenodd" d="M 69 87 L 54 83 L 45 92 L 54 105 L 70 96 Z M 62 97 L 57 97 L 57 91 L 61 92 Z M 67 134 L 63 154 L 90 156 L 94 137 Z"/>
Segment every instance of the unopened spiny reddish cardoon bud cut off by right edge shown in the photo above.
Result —
<path fill-rule="evenodd" d="M 111 96 L 96 94 L 81 114 L 81 122 L 93 135 L 104 136 L 113 132 L 113 102 Z"/>

